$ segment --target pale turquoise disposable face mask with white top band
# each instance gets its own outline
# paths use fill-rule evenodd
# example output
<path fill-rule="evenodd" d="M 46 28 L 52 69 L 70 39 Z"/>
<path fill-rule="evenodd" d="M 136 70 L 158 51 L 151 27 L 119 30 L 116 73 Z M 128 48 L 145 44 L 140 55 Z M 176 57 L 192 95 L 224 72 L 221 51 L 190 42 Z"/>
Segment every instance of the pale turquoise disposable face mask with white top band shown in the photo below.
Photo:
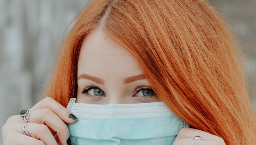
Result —
<path fill-rule="evenodd" d="M 67 124 L 72 145 L 172 145 L 189 127 L 164 102 L 86 104 L 71 98 L 67 109 L 77 121 Z"/>

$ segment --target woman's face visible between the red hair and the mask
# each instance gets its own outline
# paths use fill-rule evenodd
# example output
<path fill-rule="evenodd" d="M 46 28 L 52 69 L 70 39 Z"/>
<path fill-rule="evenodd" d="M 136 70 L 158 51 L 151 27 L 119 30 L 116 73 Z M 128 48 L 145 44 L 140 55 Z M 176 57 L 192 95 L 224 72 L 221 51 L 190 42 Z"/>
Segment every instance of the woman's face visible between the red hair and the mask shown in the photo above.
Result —
<path fill-rule="evenodd" d="M 79 103 L 132 104 L 161 101 L 133 56 L 104 35 L 101 29 L 91 32 L 84 40 L 77 73 Z"/>

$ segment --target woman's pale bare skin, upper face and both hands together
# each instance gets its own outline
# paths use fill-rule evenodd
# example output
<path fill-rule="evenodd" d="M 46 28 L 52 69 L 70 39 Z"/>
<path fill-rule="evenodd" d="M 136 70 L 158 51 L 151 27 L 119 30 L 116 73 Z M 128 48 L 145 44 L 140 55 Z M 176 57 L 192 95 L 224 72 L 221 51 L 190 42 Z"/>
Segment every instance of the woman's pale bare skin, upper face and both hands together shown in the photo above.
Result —
<path fill-rule="evenodd" d="M 124 80 L 137 75 L 141 76 L 136 80 Z M 104 35 L 101 29 L 96 29 L 86 37 L 79 54 L 77 102 L 131 104 L 161 101 L 142 75 L 133 56 Z M 83 91 L 91 85 L 97 88 Z M 66 123 L 76 121 L 68 117 L 71 111 L 51 97 L 39 101 L 30 111 L 26 129 L 31 137 L 21 134 L 24 120 L 20 115 L 14 115 L 2 127 L 4 145 L 67 145 L 69 130 Z M 49 128 L 56 132 L 54 136 Z M 190 145 L 196 135 L 202 140 L 196 140 L 193 145 L 225 145 L 222 138 L 193 128 L 181 129 L 173 145 Z"/>

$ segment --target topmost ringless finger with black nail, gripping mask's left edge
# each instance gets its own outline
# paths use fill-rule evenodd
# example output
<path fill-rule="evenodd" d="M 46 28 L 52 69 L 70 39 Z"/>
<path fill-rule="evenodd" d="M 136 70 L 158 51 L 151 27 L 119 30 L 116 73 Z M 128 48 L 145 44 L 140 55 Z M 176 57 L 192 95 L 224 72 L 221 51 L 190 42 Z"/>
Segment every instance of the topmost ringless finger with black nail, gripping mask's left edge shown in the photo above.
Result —
<path fill-rule="evenodd" d="M 36 105 L 34 105 L 30 111 L 32 113 L 33 110 L 49 108 L 51 109 L 57 116 L 59 116 L 64 122 L 74 123 L 77 117 L 67 108 L 60 105 L 57 101 L 55 101 L 51 97 L 46 97 L 43 100 L 39 101 Z M 72 114 L 72 115 L 70 115 Z M 29 116 L 30 117 L 30 116 Z"/>

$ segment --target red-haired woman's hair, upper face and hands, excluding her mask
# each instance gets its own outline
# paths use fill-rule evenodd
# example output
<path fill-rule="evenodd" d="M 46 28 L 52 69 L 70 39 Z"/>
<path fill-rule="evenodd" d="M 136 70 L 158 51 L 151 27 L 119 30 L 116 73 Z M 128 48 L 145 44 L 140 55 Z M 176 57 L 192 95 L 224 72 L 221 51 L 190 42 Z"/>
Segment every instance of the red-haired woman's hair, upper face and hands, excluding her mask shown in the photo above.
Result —
<path fill-rule="evenodd" d="M 190 125 L 169 144 L 256 142 L 241 51 L 206 1 L 90 1 L 60 48 L 42 100 L 7 120 L 4 145 L 70 144 L 67 124 L 80 119 L 66 109 L 70 98 L 90 105 L 162 101 Z"/>

